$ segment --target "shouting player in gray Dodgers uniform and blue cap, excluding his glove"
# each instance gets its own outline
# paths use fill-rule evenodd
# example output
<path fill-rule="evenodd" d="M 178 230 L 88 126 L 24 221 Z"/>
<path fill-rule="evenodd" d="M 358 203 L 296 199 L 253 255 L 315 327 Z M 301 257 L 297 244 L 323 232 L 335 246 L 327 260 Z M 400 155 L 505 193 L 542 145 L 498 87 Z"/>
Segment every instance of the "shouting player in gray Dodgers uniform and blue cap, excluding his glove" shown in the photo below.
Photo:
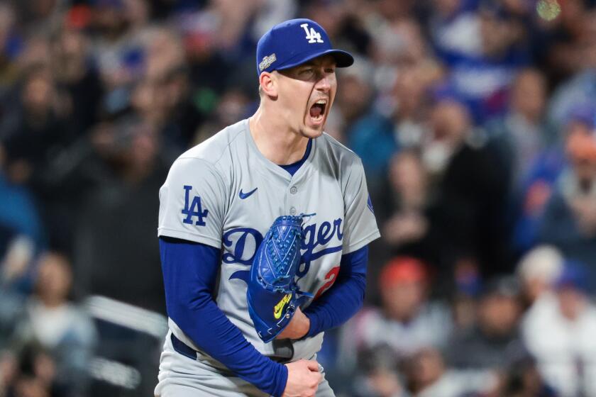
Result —
<path fill-rule="evenodd" d="M 263 35 L 256 63 L 255 114 L 181 155 L 160 189 L 170 332 L 155 396 L 333 396 L 316 352 L 363 302 L 368 243 L 380 234 L 360 159 L 324 133 L 336 67 L 353 57 L 294 19 Z M 312 298 L 263 342 L 248 274 L 274 220 L 299 214 L 309 216 L 295 279 Z"/>

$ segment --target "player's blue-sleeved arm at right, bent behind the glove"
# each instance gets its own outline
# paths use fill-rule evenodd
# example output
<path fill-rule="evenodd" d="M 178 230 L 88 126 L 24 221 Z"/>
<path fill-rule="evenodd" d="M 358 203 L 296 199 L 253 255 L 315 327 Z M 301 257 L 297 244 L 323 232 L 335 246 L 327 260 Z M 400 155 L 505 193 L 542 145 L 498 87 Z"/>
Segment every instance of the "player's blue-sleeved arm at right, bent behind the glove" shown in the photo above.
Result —
<path fill-rule="evenodd" d="M 306 337 L 338 327 L 360 310 L 366 289 L 367 262 L 368 247 L 343 255 L 336 283 L 304 311 L 310 320 Z"/>

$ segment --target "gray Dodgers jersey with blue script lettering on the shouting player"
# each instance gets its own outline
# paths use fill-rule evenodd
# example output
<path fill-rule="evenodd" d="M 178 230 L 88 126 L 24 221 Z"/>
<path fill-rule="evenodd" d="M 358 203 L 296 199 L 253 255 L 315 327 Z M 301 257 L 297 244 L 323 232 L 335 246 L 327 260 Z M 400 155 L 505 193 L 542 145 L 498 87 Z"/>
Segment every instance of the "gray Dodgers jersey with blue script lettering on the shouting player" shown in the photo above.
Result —
<path fill-rule="evenodd" d="M 341 255 L 380 237 L 362 163 L 329 135 L 313 140 L 292 176 L 259 152 L 243 120 L 182 154 L 160 189 L 158 235 L 221 248 L 217 306 L 268 356 L 277 355 L 274 343 L 253 327 L 244 280 L 275 218 L 299 213 L 316 215 L 304 223 L 297 284 L 319 296 L 335 281 Z M 170 329 L 199 350 L 171 319 Z M 294 341 L 292 359 L 313 357 L 322 342 L 323 332 Z"/>

